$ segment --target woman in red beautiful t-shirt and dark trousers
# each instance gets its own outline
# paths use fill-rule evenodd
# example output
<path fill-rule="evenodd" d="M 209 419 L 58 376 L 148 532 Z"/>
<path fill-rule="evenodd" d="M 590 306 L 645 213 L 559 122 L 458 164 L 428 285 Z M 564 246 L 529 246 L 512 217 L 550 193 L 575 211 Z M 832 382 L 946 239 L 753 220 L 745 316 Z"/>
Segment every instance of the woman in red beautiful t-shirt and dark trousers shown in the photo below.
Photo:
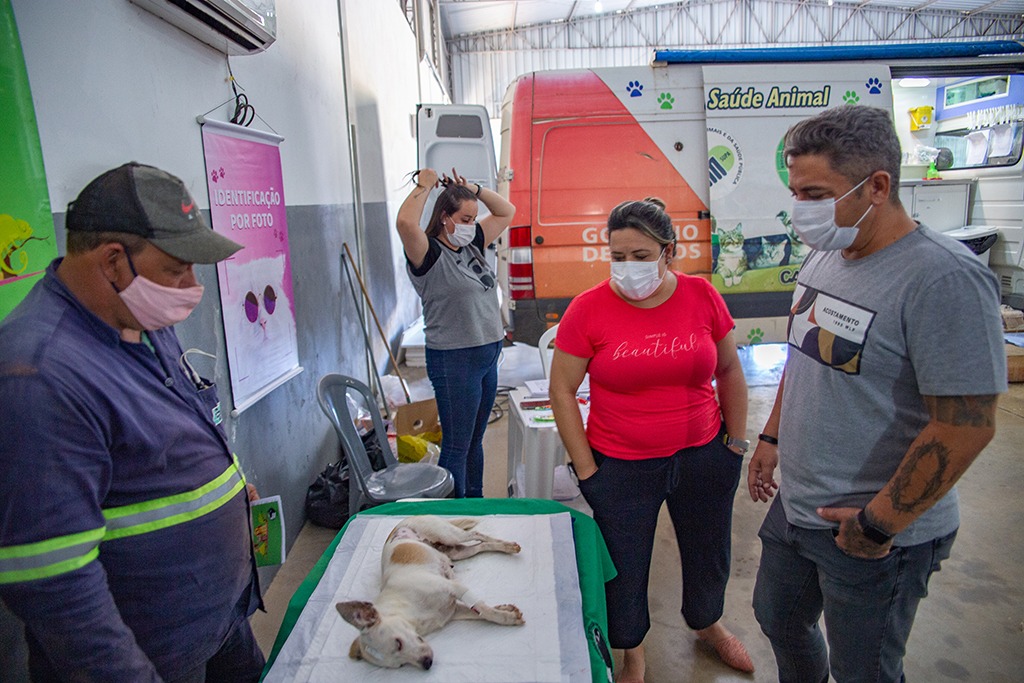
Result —
<path fill-rule="evenodd" d="M 675 230 L 659 200 L 616 206 L 608 245 L 611 278 L 577 296 L 558 326 L 550 395 L 618 570 L 607 584 L 608 640 L 625 649 L 618 680 L 643 681 L 663 503 L 679 543 L 686 624 L 730 667 L 753 672 L 746 648 L 722 624 L 732 501 L 749 445 L 732 316 L 707 280 L 670 270 Z M 585 428 L 575 393 L 588 373 Z"/>

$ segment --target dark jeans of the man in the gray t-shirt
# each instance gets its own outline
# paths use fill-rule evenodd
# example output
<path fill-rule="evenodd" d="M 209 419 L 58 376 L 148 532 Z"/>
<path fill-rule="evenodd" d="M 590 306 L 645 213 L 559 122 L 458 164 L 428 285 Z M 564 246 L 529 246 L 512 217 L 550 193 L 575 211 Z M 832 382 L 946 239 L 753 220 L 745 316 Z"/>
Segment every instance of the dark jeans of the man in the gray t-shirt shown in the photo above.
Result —
<path fill-rule="evenodd" d="M 903 654 L 928 581 L 956 532 L 894 547 L 867 560 L 847 555 L 831 529 L 785 519 L 778 497 L 758 533 L 754 613 L 771 641 L 780 683 L 903 681 Z M 818 628 L 824 613 L 828 645 Z"/>

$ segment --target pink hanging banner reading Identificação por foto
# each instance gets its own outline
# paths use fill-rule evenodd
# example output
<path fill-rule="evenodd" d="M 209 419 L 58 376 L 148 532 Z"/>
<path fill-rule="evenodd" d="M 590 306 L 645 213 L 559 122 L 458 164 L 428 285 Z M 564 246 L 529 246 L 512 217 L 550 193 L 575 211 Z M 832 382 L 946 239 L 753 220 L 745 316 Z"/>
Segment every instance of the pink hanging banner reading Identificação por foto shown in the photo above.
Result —
<path fill-rule="evenodd" d="M 203 123 L 213 229 L 245 246 L 217 264 L 232 416 L 302 372 L 279 147 L 283 139 L 233 124 Z"/>

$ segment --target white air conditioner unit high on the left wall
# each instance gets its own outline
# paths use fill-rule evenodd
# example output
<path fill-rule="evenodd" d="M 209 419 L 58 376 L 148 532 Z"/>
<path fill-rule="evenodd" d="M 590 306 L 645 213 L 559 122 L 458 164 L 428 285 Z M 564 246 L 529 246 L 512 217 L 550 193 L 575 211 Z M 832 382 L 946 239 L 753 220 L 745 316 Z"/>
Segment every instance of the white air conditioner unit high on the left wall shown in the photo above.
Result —
<path fill-rule="evenodd" d="M 262 52 L 278 38 L 274 0 L 130 0 L 225 54 Z"/>

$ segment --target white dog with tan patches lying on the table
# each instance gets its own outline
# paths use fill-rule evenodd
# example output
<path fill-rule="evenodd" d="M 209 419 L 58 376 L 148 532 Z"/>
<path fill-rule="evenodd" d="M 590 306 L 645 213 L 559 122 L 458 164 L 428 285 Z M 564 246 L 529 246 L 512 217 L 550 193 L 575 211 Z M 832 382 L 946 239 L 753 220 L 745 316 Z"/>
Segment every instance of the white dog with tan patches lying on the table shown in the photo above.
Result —
<path fill-rule="evenodd" d="M 515 605 L 492 607 L 455 580 L 453 562 L 478 553 L 515 554 L 519 544 L 479 531 L 475 519 L 451 521 L 409 517 L 388 536 L 381 554 L 381 591 L 374 602 L 352 600 L 336 606 L 359 630 L 348 655 L 396 669 L 412 664 L 430 669 L 433 650 L 423 639 L 453 618 L 485 620 L 503 626 L 523 624 Z"/>

